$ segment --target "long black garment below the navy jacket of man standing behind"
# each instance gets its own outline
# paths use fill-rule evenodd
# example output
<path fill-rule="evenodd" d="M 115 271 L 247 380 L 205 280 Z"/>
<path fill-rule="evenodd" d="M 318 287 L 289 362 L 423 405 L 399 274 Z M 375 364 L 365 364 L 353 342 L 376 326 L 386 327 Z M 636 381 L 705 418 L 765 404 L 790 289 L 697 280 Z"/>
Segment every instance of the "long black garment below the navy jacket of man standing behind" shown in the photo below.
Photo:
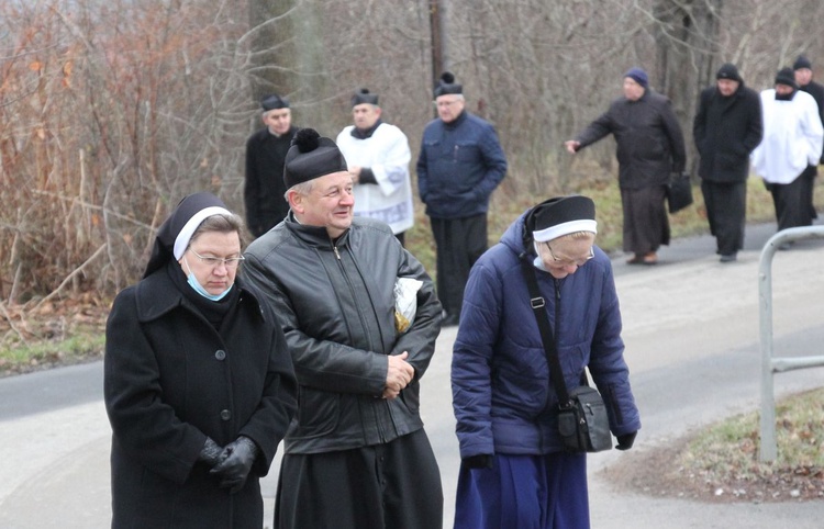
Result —
<path fill-rule="evenodd" d="M 459 316 L 469 270 L 487 251 L 487 214 L 430 221 L 437 246 L 437 296 L 446 314 Z"/>

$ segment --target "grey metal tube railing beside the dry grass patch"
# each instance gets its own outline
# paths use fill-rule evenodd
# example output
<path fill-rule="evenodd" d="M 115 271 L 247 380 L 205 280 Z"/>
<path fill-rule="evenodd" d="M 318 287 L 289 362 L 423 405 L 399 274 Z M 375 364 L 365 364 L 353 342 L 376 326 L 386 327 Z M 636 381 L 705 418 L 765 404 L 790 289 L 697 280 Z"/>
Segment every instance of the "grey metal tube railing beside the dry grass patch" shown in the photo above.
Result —
<path fill-rule="evenodd" d="M 761 249 L 761 260 L 758 268 L 758 312 L 761 334 L 761 443 L 759 459 L 762 462 L 775 461 L 778 455 L 773 375 L 795 369 L 824 365 L 824 356 L 779 358 L 772 356 L 772 257 L 783 244 L 814 238 L 824 238 L 824 226 L 782 229 L 770 237 Z"/>

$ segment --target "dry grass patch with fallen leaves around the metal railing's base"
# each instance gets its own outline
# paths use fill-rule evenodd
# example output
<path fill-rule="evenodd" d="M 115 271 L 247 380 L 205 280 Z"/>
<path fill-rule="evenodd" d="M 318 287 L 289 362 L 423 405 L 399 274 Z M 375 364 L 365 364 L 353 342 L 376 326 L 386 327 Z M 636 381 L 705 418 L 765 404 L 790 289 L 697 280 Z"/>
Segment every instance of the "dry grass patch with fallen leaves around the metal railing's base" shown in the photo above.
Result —
<path fill-rule="evenodd" d="M 711 425 L 667 447 L 632 453 L 605 471 L 619 486 L 704 502 L 824 498 L 824 389 L 776 408 L 778 458 L 759 461 L 757 413 Z"/>

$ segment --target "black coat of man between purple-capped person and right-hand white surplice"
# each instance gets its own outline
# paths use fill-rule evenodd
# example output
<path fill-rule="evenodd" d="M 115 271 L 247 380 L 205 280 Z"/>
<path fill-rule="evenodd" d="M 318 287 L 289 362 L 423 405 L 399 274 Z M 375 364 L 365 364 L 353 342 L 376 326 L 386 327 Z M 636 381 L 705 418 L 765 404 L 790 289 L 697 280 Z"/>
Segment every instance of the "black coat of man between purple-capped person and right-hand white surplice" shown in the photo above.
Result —
<path fill-rule="evenodd" d="M 728 98 L 716 87 L 701 92 L 692 137 L 701 155 L 698 173 L 710 182 L 744 182 L 749 176 L 749 154 L 761 143 L 761 101 L 744 86 Z"/>

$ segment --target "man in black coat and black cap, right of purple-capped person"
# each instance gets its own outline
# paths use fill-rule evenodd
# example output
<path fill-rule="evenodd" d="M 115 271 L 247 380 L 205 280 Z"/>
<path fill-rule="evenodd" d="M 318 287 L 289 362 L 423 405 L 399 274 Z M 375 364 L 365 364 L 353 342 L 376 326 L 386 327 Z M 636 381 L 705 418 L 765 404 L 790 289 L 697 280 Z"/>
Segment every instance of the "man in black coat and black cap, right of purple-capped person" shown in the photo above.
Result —
<path fill-rule="evenodd" d="M 735 65 L 723 65 L 715 78 L 701 92 L 692 136 L 710 232 L 721 262 L 731 262 L 744 246 L 749 154 L 761 143 L 764 126 L 758 93 L 744 86 Z"/>

